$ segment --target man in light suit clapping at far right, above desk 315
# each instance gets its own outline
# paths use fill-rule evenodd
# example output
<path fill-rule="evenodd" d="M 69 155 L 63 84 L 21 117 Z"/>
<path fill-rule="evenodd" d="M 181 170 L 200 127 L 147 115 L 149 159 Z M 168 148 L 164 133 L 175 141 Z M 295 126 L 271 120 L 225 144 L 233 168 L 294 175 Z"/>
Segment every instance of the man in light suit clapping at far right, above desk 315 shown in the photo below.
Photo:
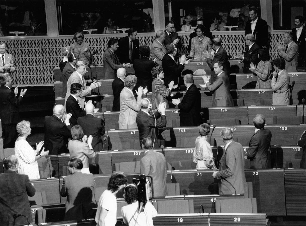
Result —
<path fill-rule="evenodd" d="M 286 62 L 286 72 L 296 72 L 297 71 L 297 61 L 299 58 L 299 47 L 297 43 L 293 41 L 293 33 L 285 32 L 284 46 L 282 44 L 277 44 L 278 53 L 280 57 L 285 59 Z"/>

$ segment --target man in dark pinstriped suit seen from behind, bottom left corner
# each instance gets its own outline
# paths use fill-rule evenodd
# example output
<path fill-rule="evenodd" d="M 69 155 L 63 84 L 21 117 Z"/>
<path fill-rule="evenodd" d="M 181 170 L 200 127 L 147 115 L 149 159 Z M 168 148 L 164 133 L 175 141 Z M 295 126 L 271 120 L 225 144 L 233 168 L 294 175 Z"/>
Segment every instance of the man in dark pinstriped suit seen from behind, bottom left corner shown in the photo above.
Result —
<path fill-rule="evenodd" d="M 15 225 L 25 225 L 33 221 L 28 196 L 35 195 L 28 175 L 18 174 L 17 157 L 10 155 L 4 160 L 6 171 L 0 174 L 0 225 L 13 225 L 14 215 L 18 217 Z M 27 222 L 28 221 L 28 222 Z"/>

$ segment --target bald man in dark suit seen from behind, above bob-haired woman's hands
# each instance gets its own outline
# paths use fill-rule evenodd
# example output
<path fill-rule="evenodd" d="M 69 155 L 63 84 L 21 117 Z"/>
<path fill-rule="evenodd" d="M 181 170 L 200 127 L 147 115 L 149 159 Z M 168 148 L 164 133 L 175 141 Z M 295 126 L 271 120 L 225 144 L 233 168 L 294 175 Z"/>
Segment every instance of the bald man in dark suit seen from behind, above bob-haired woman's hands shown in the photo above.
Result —
<path fill-rule="evenodd" d="M 77 124 L 80 125 L 84 131 L 84 135 L 92 136 L 91 146 L 97 151 L 103 150 L 103 141 L 101 136 L 105 134 L 104 120 L 94 116 L 94 113 L 99 111 L 93 104 L 85 105 L 86 115 L 77 119 Z"/>

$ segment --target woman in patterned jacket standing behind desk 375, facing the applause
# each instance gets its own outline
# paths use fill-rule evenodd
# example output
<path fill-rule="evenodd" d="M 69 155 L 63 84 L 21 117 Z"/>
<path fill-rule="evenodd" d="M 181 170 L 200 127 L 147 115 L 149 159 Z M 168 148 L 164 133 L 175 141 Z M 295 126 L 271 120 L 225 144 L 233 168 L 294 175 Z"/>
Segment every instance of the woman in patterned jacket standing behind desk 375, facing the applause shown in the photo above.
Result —
<path fill-rule="evenodd" d="M 196 27 L 196 37 L 191 40 L 191 49 L 188 58 L 194 61 L 205 61 L 206 57 L 203 51 L 211 52 L 211 40 L 204 35 L 204 26 L 198 25 Z"/>

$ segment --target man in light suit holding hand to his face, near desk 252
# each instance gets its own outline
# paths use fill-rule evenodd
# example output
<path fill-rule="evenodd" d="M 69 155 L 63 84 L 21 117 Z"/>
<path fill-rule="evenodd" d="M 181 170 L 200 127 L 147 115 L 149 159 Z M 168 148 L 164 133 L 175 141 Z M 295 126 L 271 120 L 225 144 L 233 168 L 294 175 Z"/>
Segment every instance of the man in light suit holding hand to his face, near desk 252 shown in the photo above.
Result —
<path fill-rule="evenodd" d="M 273 77 L 271 88 L 273 90 L 272 105 L 288 105 L 289 102 L 289 83 L 290 77 L 285 70 L 285 60 L 276 58 L 273 60 Z M 277 77 L 277 78 L 276 78 Z"/>

